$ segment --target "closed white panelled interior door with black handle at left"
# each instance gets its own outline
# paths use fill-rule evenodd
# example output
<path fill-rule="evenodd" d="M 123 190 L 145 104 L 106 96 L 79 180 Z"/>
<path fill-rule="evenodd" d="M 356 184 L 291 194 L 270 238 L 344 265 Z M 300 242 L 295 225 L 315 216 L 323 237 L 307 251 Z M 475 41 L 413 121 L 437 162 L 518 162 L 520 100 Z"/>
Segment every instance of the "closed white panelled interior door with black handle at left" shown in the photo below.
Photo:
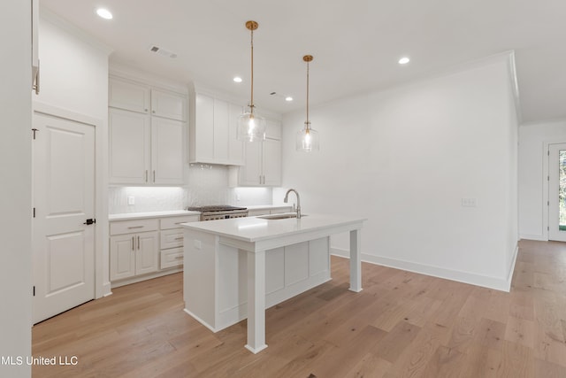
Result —
<path fill-rule="evenodd" d="M 95 127 L 34 113 L 34 323 L 95 297 Z"/>

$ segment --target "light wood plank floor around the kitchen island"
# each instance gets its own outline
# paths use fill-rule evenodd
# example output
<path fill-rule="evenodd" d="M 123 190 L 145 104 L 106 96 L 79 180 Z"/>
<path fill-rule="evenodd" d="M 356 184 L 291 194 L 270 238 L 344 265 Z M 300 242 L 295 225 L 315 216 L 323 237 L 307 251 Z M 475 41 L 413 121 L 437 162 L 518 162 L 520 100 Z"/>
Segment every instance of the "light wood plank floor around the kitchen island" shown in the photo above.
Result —
<path fill-rule="evenodd" d="M 183 309 L 182 274 L 136 283 L 33 328 L 34 377 L 566 377 L 566 243 L 522 241 L 510 293 L 348 260 L 333 281 L 213 334 Z"/>

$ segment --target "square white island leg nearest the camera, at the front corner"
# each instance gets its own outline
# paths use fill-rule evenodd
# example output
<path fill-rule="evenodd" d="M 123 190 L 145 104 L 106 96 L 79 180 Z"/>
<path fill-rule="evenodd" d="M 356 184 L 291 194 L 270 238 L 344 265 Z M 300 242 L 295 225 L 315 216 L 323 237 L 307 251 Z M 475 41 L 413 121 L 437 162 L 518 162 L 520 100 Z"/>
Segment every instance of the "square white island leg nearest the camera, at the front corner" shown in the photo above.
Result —
<path fill-rule="evenodd" d="M 265 343 L 265 251 L 248 251 L 248 343 L 252 353 Z"/>

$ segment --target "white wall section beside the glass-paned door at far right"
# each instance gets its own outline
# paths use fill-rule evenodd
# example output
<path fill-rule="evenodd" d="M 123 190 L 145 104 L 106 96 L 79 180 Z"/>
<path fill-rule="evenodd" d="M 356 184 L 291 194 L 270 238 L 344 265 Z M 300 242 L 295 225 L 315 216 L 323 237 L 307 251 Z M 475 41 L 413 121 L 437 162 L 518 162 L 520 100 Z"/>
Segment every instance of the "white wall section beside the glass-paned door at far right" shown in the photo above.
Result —
<path fill-rule="evenodd" d="M 566 143 L 566 120 L 519 127 L 519 235 L 548 240 L 547 174 L 549 143 Z"/>

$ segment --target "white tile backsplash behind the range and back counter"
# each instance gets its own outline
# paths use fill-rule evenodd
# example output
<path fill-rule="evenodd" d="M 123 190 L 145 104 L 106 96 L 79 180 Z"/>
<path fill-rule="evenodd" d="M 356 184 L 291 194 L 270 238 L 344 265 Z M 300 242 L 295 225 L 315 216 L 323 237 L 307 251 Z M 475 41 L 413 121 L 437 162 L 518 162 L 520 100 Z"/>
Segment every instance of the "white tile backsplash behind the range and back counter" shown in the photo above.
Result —
<path fill-rule="evenodd" d="M 128 197 L 134 204 L 128 204 Z M 182 210 L 187 206 L 272 204 L 271 188 L 228 188 L 226 166 L 191 165 L 182 187 L 110 187 L 111 214 Z"/>

